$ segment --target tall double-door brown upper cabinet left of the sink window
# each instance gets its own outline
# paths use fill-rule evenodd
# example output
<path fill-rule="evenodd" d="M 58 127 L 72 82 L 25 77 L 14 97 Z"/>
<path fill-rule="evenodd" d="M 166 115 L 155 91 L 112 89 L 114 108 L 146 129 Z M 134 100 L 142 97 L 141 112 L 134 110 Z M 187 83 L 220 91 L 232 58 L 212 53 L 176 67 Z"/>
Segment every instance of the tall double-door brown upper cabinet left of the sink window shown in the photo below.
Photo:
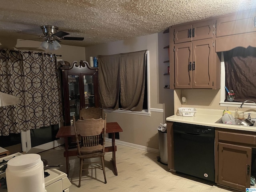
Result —
<path fill-rule="evenodd" d="M 174 50 L 175 89 L 219 88 L 220 61 L 212 39 L 175 44 Z"/>

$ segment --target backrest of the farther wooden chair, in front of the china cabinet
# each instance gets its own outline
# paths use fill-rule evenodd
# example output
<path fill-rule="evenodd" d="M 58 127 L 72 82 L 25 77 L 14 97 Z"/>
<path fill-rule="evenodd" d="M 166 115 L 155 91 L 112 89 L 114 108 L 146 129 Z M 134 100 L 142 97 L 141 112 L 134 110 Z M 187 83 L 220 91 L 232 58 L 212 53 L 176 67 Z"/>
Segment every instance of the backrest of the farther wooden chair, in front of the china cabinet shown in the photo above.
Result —
<path fill-rule="evenodd" d="M 103 105 L 102 108 L 95 108 L 95 107 L 88 107 L 88 108 L 82 108 L 79 112 L 79 119 L 85 120 L 85 119 L 99 119 L 104 118 L 103 114 Z"/>

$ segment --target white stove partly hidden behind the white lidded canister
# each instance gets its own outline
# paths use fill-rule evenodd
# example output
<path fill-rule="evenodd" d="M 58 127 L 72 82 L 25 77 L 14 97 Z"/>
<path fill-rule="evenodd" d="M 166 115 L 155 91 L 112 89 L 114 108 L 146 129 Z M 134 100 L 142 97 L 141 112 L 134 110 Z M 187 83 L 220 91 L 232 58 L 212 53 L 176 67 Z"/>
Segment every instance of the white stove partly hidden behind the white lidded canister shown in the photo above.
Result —
<path fill-rule="evenodd" d="M 7 161 L 13 158 L 14 156 L 22 155 L 22 153 L 14 153 L 5 157 L 0 158 L 0 163 L 3 162 L 3 160 Z M 4 166 L 4 165 L 2 165 Z M 0 165 L 0 168 L 2 167 Z M 44 178 L 45 183 L 45 189 L 47 192 L 69 192 L 69 187 L 71 186 L 71 183 L 67 177 L 67 174 L 57 170 L 57 169 L 47 169 L 45 172 L 48 172 L 50 174 L 49 176 Z M 5 172 L 0 172 L 0 183 L 1 178 L 5 178 Z M 7 192 L 6 186 L 0 186 L 1 192 Z"/>

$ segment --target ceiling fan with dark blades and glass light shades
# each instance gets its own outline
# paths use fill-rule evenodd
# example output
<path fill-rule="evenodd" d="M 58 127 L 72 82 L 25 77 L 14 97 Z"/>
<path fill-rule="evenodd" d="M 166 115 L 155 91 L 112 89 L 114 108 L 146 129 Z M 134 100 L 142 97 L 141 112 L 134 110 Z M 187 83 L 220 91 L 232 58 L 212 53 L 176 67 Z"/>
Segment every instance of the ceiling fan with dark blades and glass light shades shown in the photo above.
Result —
<path fill-rule="evenodd" d="M 65 37 L 69 35 L 69 33 L 64 31 L 58 31 L 58 27 L 53 25 L 44 25 L 41 26 L 44 36 L 40 36 L 43 38 L 43 42 L 40 45 L 43 49 L 47 50 L 58 50 L 61 48 L 60 40 L 77 40 L 82 41 L 84 40 L 83 37 Z"/>

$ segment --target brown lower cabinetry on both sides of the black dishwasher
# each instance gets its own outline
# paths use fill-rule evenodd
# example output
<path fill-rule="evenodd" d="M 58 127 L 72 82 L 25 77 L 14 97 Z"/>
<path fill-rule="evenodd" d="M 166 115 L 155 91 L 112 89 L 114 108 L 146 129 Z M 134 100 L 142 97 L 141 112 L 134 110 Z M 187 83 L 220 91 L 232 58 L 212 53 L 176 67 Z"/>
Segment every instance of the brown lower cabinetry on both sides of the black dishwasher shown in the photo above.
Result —
<path fill-rule="evenodd" d="M 167 122 L 168 169 L 176 172 L 173 123 Z M 256 174 L 256 132 L 215 128 L 215 183 L 244 192 L 250 188 L 253 174 Z"/>

